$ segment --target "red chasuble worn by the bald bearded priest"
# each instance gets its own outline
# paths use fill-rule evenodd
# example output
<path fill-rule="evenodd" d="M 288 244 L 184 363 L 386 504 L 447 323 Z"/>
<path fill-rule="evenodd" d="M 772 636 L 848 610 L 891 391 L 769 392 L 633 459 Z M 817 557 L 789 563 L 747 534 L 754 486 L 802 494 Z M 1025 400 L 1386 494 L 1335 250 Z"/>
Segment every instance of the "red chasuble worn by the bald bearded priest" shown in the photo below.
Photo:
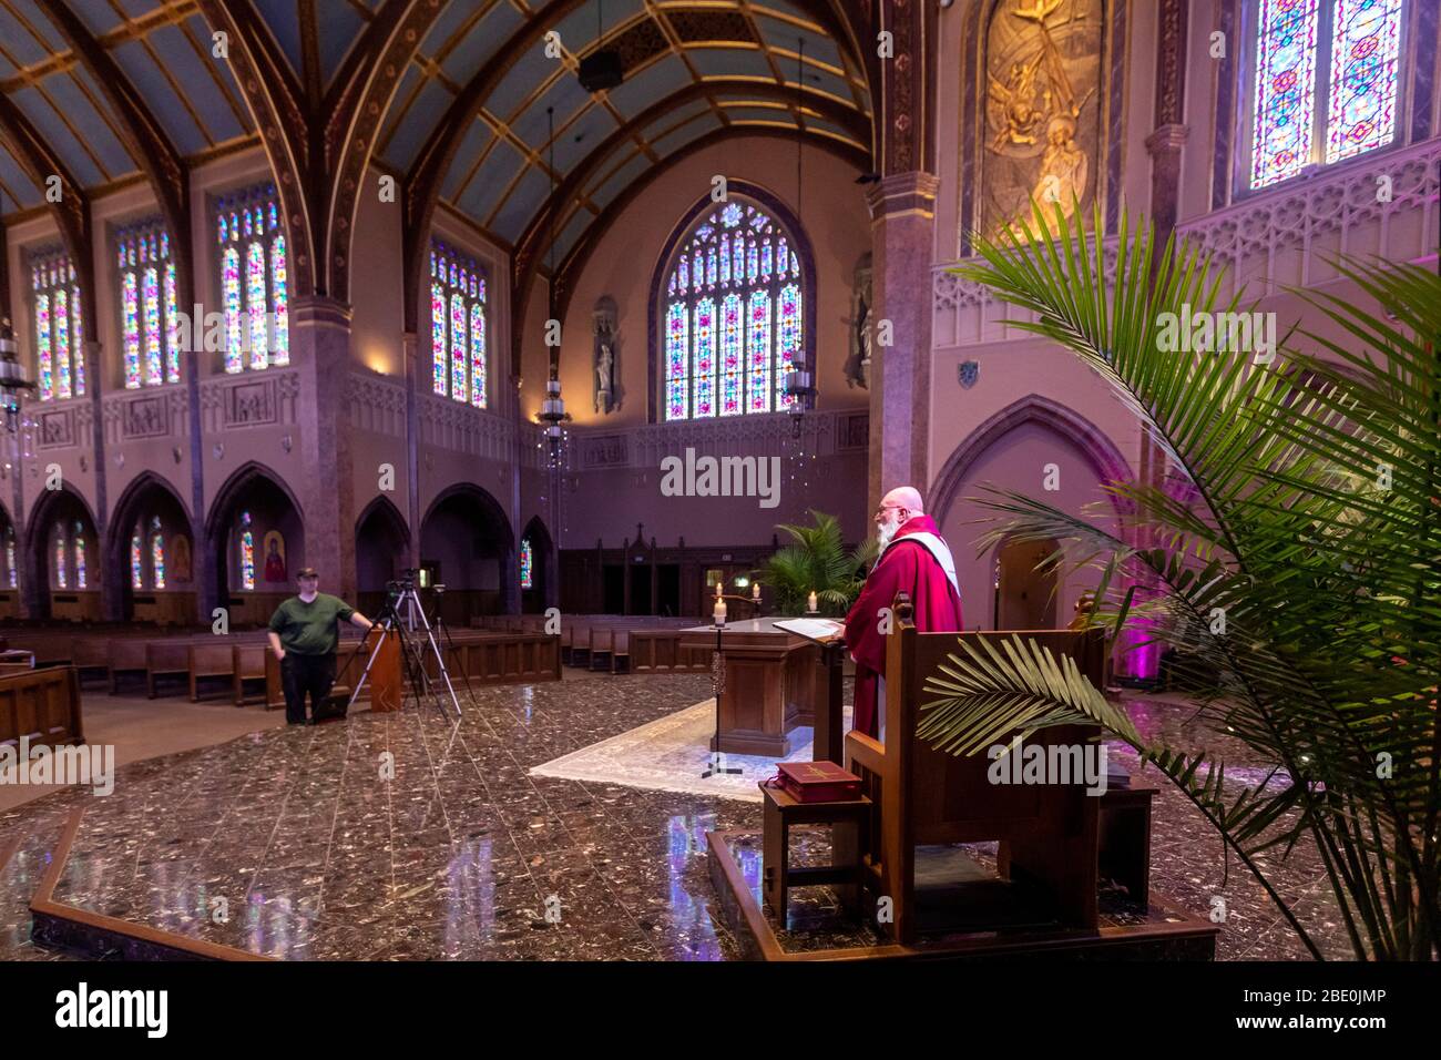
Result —
<path fill-rule="evenodd" d="M 963 629 L 961 594 L 931 549 L 905 539 L 908 534 L 918 532 L 940 536 L 929 515 L 916 515 L 901 524 L 846 616 L 846 646 L 856 661 L 855 727 L 867 736 L 880 734 L 876 678 L 886 672 L 886 639 L 878 629 L 880 609 L 891 607 L 896 593 L 904 590 L 911 596 L 915 627 L 922 633 L 958 633 Z"/>

